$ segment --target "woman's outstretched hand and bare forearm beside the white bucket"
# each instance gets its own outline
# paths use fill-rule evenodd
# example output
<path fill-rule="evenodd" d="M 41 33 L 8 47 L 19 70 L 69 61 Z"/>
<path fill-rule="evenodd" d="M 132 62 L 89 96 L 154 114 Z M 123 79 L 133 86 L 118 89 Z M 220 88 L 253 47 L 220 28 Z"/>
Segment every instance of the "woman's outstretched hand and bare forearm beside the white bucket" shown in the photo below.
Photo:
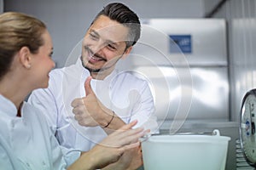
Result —
<path fill-rule="evenodd" d="M 149 130 L 144 131 L 143 127 L 132 129 L 137 124 L 133 121 L 120 127 L 115 132 L 96 144 L 88 152 L 84 152 L 79 160 L 75 161 L 68 169 L 97 169 L 106 167 L 109 164 L 119 161 L 125 151 L 139 147 L 139 138 L 143 137 Z"/>

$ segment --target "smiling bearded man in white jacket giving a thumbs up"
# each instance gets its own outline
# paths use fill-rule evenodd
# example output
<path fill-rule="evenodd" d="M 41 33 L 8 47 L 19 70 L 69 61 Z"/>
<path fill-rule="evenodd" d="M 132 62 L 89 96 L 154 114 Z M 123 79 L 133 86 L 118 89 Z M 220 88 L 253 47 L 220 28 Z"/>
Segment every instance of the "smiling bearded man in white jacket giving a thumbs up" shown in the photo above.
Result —
<path fill-rule="evenodd" d="M 115 70 L 139 37 L 137 14 L 122 3 L 108 4 L 86 32 L 77 63 L 51 71 L 49 88 L 32 93 L 29 103 L 45 113 L 62 146 L 90 150 L 133 120 L 156 129 L 148 83 Z"/>

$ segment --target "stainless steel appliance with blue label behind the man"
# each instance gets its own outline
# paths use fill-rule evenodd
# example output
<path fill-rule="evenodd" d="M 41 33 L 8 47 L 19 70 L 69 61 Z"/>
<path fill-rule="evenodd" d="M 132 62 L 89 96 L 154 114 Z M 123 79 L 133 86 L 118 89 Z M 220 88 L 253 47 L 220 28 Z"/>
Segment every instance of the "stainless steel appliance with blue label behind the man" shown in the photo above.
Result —
<path fill-rule="evenodd" d="M 160 129 L 229 121 L 226 22 L 144 19 L 132 71 L 151 84 Z"/>

